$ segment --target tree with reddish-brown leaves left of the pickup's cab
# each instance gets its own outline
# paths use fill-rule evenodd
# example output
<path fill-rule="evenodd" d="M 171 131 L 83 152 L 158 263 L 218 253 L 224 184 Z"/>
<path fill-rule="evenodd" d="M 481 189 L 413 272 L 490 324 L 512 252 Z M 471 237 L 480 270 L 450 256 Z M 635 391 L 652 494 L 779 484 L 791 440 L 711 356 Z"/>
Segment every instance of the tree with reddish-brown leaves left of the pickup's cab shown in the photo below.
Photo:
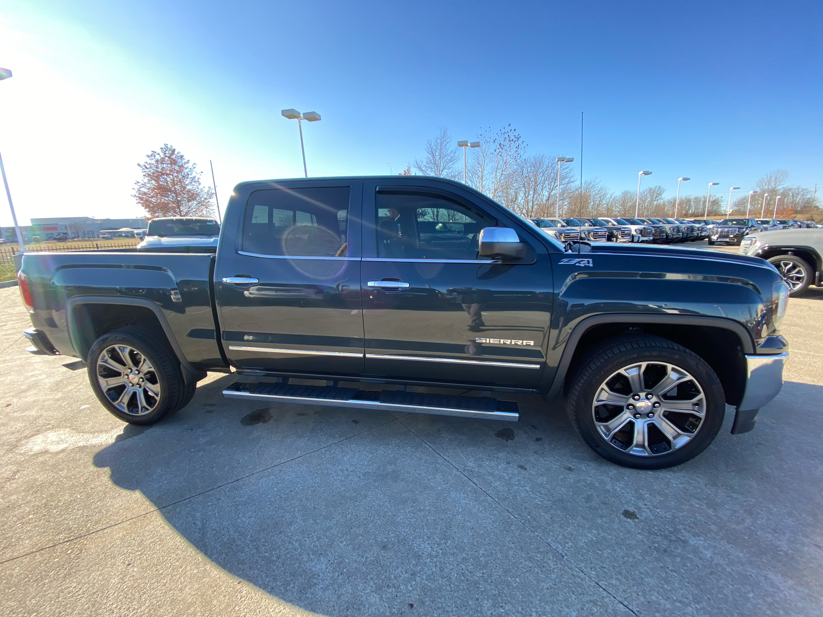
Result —
<path fill-rule="evenodd" d="M 137 164 L 143 177 L 132 197 L 148 216 L 213 216 L 214 191 L 202 186 L 202 172 L 182 152 L 166 143 L 146 159 Z"/>

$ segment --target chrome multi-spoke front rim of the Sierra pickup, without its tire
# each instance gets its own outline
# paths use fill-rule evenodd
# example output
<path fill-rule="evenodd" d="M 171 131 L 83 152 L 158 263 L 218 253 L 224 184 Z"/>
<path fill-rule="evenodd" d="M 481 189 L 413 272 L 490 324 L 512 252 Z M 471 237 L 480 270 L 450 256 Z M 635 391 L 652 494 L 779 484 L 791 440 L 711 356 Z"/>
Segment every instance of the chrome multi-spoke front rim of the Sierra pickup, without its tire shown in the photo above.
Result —
<path fill-rule="evenodd" d="M 592 404 L 597 433 L 612 448 L 654 457 L 689 443 L 704 424 L 706 397 L 674 364 L 641 362 L 612 373 Z"/>

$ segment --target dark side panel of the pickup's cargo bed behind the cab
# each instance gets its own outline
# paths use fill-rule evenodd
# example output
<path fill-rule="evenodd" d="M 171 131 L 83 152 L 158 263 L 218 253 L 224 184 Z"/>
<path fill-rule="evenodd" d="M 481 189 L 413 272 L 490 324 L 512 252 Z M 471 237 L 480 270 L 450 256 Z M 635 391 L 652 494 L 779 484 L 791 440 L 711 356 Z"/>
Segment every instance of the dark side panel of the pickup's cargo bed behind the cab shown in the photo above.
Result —
<path fill-rule="evenodd" d="M 26 253 L 32 323 L 58 352 L 86 360 L 101 307 L 120 304 L 127 321 L 129 311 L 150 310 L 193 368 L 225 366 L 215 327 L 214 259 L 165 251 Z"/>

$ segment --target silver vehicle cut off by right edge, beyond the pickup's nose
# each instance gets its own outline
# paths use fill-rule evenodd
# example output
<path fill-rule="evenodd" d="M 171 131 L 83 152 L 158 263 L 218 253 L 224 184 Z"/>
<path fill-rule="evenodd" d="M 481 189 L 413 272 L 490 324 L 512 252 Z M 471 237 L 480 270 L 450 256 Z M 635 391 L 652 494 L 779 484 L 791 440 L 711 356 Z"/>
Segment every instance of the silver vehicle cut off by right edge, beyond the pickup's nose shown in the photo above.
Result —
<path fill-rule="evenodd" d="M 770 262 L 788 283 L 789 295 L 802 294 L 809 285 L 823 286 L 823 229 L 756 232 L 743 239 L 737 252 Z"/>

